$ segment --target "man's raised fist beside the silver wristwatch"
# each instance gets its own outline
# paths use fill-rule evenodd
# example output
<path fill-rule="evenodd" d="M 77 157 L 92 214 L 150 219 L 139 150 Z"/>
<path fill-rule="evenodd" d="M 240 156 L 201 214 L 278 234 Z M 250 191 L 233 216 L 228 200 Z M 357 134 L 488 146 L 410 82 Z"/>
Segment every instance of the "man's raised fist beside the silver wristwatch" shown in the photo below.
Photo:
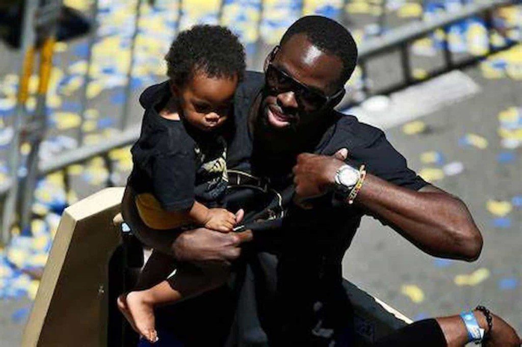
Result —
<path fill-rule="evenodd" d="M 304 200 L 326 194 L 335 183 L 335 173 L 345 163 L 348 151 L 341 148 L 333 156 L 303 153 L 293 167 L 294 202 L 306 207 Z"/>

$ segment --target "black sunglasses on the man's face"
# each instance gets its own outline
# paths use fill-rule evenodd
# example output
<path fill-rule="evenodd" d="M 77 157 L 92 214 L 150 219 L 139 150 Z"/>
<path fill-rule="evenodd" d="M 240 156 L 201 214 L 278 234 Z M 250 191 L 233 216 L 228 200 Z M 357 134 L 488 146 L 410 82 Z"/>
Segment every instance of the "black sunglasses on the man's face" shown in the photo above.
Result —
<path fill-rule="evenodd" d="M 344 88 L 339 89 L 331 96 L 324 95 L 322 92 L 311 89 L 302 84 L 280 68 L 272 64 L 276 49 L 270 55 L 270 61 L 265 69 L 265 82 L 268 89 L 273 92 L 292 91 L 298 103 L 306 108 L 321 109 L 328 105 L 332 100 L 339 98 L 345 92 Z"/>

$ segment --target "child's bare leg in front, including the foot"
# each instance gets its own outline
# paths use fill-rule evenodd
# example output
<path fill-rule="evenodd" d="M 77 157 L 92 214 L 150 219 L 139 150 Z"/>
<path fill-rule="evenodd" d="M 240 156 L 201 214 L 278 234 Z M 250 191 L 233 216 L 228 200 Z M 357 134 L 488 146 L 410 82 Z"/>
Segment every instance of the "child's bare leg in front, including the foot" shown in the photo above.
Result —
<path fill-rule="evenodd" d="M 142 291 L 134 291 L 126 297 L 126 307 L 138 332 L 149 341 L 157 340 L 154 307 L 173 304 L 199 295 L 222 285 L 228 277 L 228 268 L 221 265 L 205 267 L 182 264 L 168 280 Z"/>

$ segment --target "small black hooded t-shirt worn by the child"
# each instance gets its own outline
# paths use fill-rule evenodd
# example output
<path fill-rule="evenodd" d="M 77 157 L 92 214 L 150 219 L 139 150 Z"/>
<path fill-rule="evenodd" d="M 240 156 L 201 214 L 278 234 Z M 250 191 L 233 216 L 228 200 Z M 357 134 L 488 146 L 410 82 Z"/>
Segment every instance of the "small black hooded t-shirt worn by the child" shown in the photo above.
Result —
<path fill-rule="evenodd" d="M 145 109 L 138 141 L 131 148 L 128 184 L 137 194 L 151 193 L 165 211 L 183 211 L 194 200 L 215 205 L 227 187 L 226 141 L 219 133 L 201 133 L 181 120 L 161 117 L 171 97 L 168 82 L 140 96 Z"/>

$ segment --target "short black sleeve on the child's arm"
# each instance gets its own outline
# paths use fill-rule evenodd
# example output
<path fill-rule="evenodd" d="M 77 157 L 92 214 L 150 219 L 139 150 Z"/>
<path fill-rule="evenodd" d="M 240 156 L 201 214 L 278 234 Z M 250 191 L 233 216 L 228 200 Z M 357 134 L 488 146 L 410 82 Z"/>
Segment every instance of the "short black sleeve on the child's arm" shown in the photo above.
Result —
<path fill-rule="evenodd" d="M 190 154 L 174 152 L 152 160 L 152 188 L 165 211 L 186 211 L 194 204 L 195 161 Z"/>

